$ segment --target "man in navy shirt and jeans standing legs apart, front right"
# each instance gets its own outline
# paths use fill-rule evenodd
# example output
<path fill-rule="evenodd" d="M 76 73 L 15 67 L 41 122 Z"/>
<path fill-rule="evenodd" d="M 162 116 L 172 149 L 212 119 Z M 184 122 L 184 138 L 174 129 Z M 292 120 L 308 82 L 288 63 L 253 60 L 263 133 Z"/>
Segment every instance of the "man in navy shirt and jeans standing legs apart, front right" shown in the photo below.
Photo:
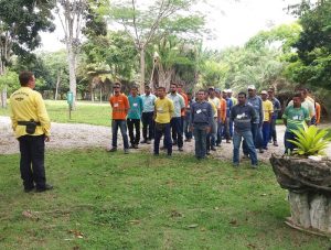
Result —
<path fill-rule="evenodd" d="M 233 133 L 233 164 L 239 165 L 239 149 L 242 139 L 245 140 L 250 156 L 252 167 L 257 167 L 257 155 L 253 141 L 252 127 L 257 121 L 256 111 L 246 104 L 246 93 L 238 94 L 238 104 L 231 110 L 231 120 L 234 122 Z"/>

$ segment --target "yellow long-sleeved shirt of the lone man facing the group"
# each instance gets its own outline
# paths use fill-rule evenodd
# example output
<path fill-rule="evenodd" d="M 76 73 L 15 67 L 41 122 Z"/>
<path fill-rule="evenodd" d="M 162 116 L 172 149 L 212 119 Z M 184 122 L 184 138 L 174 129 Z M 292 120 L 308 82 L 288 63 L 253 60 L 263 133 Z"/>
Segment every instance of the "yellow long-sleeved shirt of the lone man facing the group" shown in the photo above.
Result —
<path fill-rule="evenodd" d="M 25 126 L 18 124 L 18 121 L 31 119 L 41 123 L 31 135 L 51 134 L 51 121 L 40 93 L 29 87 L 21 87 L 11 95 L 10 108 L 12 129 L 17 138 L 28 134 Z"/>

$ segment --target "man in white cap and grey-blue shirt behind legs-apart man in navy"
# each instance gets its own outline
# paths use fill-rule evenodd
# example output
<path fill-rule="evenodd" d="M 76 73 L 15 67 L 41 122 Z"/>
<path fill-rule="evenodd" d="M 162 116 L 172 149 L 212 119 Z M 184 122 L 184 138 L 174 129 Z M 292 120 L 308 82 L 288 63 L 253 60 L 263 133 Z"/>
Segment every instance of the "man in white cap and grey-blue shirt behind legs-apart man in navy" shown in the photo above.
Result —
<path fill-rule="evenodd" d="M 264 110 L 263 110 L 263 100 L 259 96 L 256 95 L 256 88 L 254 85 L 247 87 L 248 98 L 247 104 L 250 105 L 256 112 L 256 121 L 252 124 L 253 141 L 256 149 L 259 149 L 259 152 L 263 153 L 263 135 L 261 127 L 264 121 Z M 249 154 L 246 143 L 243 143 L 243 151 L 245 156 Z"/>

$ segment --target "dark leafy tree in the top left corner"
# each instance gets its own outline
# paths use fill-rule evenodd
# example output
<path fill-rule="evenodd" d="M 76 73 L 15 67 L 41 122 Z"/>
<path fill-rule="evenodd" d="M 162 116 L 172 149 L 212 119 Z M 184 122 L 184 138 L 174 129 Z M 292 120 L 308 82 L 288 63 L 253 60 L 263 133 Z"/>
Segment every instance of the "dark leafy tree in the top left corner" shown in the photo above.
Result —
<path fill-rule="evenodd" d="M 11 55 L 26 55 L 41 44 L 40 31 L 53 31 L 52 1 L 0 0 L 0 76 Z M 2 86 L 1 105 L 7 105 L 7 85 Z"/>

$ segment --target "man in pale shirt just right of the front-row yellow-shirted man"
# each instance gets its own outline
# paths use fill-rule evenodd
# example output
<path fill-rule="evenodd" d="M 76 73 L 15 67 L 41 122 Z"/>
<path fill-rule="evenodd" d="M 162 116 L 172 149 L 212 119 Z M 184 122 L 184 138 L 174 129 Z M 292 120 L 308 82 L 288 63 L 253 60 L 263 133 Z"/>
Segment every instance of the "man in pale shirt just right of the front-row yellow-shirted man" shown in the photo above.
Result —
<path fill-rule="evenodd" d="M 178 150 L 183 151 L 183 130 L 182 130 L 182 119 L 181 113 L 185 110 L 184 98 L 177 93 L 177 84 L 172 83 L 170 85 L 170 94 L 167 96 L 170 100 L 172 100 L 174 106 L 173 117 L 171 118 L 171 130 L 173 140 L 177 139 Z M 174 133 L 174 134 L 173 134 Z"/>

